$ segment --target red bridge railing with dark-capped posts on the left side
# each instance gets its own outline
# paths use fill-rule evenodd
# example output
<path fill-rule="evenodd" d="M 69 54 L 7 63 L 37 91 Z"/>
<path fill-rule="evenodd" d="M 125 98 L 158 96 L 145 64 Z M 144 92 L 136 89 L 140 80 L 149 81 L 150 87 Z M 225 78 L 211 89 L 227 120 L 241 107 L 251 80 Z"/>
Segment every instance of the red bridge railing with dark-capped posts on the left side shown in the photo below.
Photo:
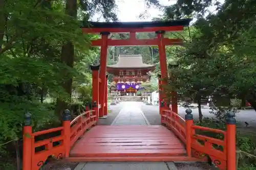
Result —
<path fill-rule="evenodd" d="M 70 111 L 66 109 L 61 127 L 34 133 L 31 114 L 26 113 L 23 127 L 23 169 L 38 170 L 49 157 L 69 157 L 70 149 L 77 139 L 96 124 L 95 113 L 95 110 L 84 111 L 71 122 Z"/>

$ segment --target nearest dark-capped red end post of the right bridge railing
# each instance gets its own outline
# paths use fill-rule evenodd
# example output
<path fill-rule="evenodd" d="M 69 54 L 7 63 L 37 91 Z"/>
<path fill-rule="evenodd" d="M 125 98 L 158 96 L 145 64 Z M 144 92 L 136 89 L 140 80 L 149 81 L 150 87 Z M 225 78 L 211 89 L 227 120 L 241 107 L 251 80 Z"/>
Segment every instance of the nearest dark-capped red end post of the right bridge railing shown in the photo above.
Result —
<path fill-rule="evenodd" d="M 236 118 L 234 112 L 227 113 L 227 170 L 236 169 Z"/>

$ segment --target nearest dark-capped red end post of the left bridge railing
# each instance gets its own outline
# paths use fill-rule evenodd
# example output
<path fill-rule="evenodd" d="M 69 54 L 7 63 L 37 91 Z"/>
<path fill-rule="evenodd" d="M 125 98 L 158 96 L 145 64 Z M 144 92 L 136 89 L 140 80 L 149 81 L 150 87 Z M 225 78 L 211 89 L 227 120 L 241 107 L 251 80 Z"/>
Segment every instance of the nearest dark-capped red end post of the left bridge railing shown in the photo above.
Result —
<path fill-rule="evenodd" d="M 23 127 L 23 170 L 32 170 L 32 126 L 31 114 L 25 114 Z"/>

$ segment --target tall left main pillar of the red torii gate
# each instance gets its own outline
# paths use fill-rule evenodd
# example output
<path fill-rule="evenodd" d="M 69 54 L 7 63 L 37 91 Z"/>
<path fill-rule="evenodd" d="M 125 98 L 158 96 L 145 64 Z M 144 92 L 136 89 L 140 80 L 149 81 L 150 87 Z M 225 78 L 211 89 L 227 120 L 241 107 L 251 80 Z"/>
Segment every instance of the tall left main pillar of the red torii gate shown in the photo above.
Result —
<path fill-rule="evenodd" d="M 99 117 L 104 116 L 104 104 L 105 104 L 105 86 L 106 86 L 106 62 L 108 56 L 108 36 L 109 32 L 101 32 L 101 47 L 100 47 L 100 72 L 99 77 L 101 79 L 100 92 L 99 92 L 99 103 L 101 108 L 99 109 Z"/>

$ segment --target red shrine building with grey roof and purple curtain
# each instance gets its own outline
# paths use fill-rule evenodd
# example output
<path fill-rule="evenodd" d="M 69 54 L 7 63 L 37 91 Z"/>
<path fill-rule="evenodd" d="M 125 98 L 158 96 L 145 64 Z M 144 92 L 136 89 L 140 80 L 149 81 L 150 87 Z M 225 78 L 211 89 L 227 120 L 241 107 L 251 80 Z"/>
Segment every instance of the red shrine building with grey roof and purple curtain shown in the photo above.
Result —
<path fill-rule="evenodd" d="M 117 64 L 106 67 L 106 71 L 115 76 L 115 88 L 111 88 L 111 92 L 119 92 L 121 96 L 136 95 L 140 84 L 148 81 L 148 72 L 154 69 L 155 65 L 142 62 L 141 55 L 119 55 Z"/>

